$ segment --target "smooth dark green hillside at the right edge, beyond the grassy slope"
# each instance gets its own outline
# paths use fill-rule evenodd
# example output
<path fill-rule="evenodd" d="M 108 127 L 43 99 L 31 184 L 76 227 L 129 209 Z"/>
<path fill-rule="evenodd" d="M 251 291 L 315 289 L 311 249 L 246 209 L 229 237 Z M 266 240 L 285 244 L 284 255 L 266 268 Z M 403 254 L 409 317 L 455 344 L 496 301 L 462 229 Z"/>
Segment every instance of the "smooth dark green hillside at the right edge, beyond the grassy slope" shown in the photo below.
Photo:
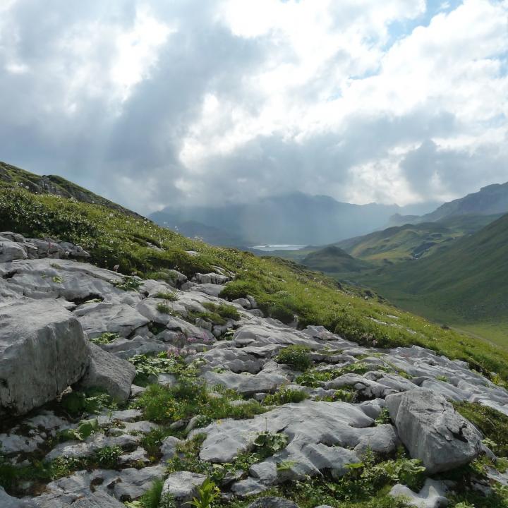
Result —
<path fill-rule="evenodd" d="M 363 283 L 404 308 L 476 324 L 477 331 L 508 322 L 508 214 L 446 250 L 365 275 Z"/>

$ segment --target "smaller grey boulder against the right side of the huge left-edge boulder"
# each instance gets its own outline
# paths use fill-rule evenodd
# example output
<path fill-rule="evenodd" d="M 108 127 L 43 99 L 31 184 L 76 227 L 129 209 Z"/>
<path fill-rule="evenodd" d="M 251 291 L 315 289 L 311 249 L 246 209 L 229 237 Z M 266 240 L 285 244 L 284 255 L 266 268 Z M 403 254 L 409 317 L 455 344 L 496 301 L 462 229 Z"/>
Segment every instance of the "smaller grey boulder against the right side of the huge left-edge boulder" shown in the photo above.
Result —
<path fill-rule="evenodd" d="M 90 344 L 90 353 L 90 365 L 80 380 L 80 387 L 102 388 L 113 399 L 126 401 L 131 395 L 131 385 L 135 377 L 134 365 L 103 351 L 95 344 Z"/>

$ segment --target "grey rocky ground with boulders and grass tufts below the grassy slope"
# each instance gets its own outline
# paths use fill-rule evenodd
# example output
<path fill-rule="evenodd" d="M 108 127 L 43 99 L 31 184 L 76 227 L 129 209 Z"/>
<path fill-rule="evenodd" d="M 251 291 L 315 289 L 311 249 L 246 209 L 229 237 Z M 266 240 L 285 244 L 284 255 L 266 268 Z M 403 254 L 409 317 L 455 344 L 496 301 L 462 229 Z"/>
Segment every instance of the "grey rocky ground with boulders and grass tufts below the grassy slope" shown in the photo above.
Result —
<path fill-rule="evenodd" d="M 282 325 L 263 317 L 252 297 L 220 298 L 234 277 L 220 267 L 192 280 L 172 272 L 168 283 L 72 258 L 87 254 L 68 243 L 0 233 L 3 460 L 19 468 L 34 457 L 74 466 L 51 481 L 13 482 L 9 493 L 0 490 L 2 507 L 123 506 L 157 479 L 182 506 L 210 476 L 207 465 L 224 471 L 217 479 L 224 500 L 245 498 L 310 477 L 339 480 L 366 452 L 389 456 L 401 445 L 428 475 L 483 454 L 493 458 L 450 402 L 478 402 L 508 415 L 508 392 L 462 361 L 417 346 L 364 348 L 323 327 Z M 218 314 L 225 305 L 229 317 Z M 162 357 L 173 367 L 146 368 L 146 358 Z M 133 381 L 171 389 L 189 376 L 205 383 L 210 399 L 227 392 L 231 408 L 250 404 L 257 414 L 150 421 L 137 402 L 150 389 Z M 87 389 L 102 389 L 124 409 L 76 418 L 56 401 Z M 299 401 L 290 397 L 296 393 Z M 147 437 L 162 430 L 167 437 L 154 453 Z M 175 458 L 186 464 L 186 446 L 195 447 L 201 472 L 175 470 Z M 113 461 L 97 459 L 104 450 L 115 451 Z M 265 453 L 229 467 L 253 450 Z M 453 488 L 428 478 L 419 492 L 395 485 L 392 493 L 414 506 L 439 507 Z"/>

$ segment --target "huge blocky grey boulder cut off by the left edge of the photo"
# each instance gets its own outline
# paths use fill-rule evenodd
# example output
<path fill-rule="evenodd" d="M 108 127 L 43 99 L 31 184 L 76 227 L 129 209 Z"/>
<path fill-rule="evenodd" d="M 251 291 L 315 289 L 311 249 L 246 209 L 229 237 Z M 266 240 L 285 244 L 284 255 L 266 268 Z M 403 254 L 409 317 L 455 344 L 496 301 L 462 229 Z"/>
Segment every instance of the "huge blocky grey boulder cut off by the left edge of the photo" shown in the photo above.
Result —
<path fill-rule="evenodd" d="M 54 301 L 21 298 L 0 307 L 0 416 L 56 399 L 85 373 L 83 328 Z"/>

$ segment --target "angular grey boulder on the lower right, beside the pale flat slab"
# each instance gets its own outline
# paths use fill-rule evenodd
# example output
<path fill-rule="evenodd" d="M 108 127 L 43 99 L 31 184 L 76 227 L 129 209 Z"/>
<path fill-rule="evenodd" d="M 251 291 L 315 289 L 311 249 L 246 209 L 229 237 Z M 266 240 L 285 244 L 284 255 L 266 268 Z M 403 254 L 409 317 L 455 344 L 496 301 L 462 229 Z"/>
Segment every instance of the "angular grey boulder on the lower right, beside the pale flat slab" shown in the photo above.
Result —
<path fill-rule="evenodd" d="M 389 395 L 386 404 L 401 441 L 428 473 L 463 466 L 480 454 L 480 433 L 442 395 L 413 389 Z"/>

